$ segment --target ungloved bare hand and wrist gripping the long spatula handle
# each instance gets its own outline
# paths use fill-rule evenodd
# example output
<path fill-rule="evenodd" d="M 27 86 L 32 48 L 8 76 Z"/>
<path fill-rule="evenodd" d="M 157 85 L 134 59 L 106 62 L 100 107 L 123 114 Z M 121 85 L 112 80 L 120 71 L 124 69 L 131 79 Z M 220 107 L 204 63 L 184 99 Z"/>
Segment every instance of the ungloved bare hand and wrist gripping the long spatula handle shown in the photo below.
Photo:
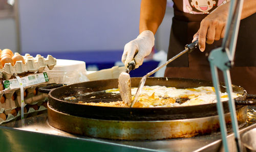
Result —
<path fill-rule="evenodd" d="M 225 25 L 228 17 L 229 4 L 219 6 L 215 11 L 207 15 L 200 25 L 199 31 L 194 35 L 194 40 L 198 38 L 201 52 L 205 49 L 205 42 L 214 43 L 220 38 L 224 38 Z M 256 12 L 255 0 L 244 0 L 241 19 L 244 19 Z"/>

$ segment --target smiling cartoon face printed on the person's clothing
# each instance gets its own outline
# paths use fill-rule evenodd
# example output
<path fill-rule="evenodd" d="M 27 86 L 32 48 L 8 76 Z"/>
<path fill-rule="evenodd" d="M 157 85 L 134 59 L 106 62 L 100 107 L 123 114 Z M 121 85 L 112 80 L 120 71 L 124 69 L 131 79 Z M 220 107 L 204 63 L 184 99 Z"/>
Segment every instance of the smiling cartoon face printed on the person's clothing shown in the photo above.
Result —
<path fill-rule="evenodd" d="M 205 14 L 209 13 L 210 10 L 216 6 L 217 2 L 214 0 L 189 0 L 189 4 L 193 11 L 202 12 Z"/>

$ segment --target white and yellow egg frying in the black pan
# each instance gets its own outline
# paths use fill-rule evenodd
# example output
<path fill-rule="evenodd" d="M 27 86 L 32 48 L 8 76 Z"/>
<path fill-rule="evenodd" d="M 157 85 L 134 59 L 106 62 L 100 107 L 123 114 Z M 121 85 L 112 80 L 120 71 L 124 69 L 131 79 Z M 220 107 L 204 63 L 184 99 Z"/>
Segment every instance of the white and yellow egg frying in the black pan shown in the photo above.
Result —
<path fill-rule="evenodd" d="M 136 94 L 138 88 L 132 88 L 132 98 Z M 109 92 L 118 93 L 118 89 L 109 89 Z M 228 100 L 226 92 L 219 92 L 221 101 Z M 232 98 L 237 98 L 241 94 L 232 92 Z M 185 103 L 178 104 L 176 99 L 185 98 Z M 214 87 L 198 87 L 177 89 L 175 87 L 165 86 L 144 86 L 141 95 L 138 98 L 136 106 L 139 107 L 177 107 L 177 106 L 192 106 L 216 103 L 216 93 Z"/>

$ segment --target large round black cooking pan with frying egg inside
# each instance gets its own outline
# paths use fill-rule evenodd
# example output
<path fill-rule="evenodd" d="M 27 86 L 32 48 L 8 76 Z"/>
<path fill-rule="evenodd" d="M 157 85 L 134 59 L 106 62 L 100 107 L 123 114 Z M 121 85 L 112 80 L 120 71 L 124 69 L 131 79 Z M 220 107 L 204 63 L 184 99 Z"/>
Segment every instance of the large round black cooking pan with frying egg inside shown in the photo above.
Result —
<path fill-rule="evenodd" d="M 141 78 L 132 78 L 132 87 L 139 85 Z M 212 86 L 210 81 L 197 79 L 181 79 L 181 78 L 147 78 L 145 85 L 147 86 L 166 86 L 177 88 L 195 88 L 200 86 Z M 100 107 L 83 105 L 73 101 L 63 100 L 65 97 L 76 96 L 85 92 L 94 92 L 97 96 L 97 91 L 101 96 L 102 102 L 112 102 L 121 100 L 120 96 L 109 98 L 108 95 L 104 97 L 102 90 L 118 88 L 118 80 L 99 80 L 72 84 L 53 89 L 49 93 L 49 106 L 59 112 L 71 114 L 79 117 L 105 119 L 105 120 L 174 120 L 174 119 L 188 119 L 199 118 L 217 115 L 216 104 L 184 106 L 184 107 L 168 107 L 168 108 L 119 108 L 119 107 Z M 244 100 L 246 98 L 246 91 L 242 87 L 232 85 L 233 91 L 243 94 L 237 100 Z M 225 92 L 225 88 L 221 86 L 221 91 Z M 104 94 L 104 93 L 103 93 Z M 97 98 L 81 99 L 82 102 L 99 102 Z M 228 112 L 228 103 L 223 102 L 225 113 Z M 243 106 L 237 105 L 236 108 Z"/>

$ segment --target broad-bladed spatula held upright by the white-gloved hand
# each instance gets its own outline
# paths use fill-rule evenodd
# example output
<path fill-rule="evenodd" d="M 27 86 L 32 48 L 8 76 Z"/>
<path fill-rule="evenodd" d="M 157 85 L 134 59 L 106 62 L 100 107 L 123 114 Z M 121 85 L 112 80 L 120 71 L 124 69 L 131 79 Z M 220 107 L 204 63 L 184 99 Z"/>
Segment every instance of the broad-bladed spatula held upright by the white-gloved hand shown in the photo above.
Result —
<path fill-rule="evenodd" d="M 134 60 L 129 62 L 125 72 L 121 72 L 118 78 L 118 88 L 121 98 L 129 106 L 131 105 L 132 100 L 131 78 L 129 72 L 135 69 L 135 64 Z"/>

